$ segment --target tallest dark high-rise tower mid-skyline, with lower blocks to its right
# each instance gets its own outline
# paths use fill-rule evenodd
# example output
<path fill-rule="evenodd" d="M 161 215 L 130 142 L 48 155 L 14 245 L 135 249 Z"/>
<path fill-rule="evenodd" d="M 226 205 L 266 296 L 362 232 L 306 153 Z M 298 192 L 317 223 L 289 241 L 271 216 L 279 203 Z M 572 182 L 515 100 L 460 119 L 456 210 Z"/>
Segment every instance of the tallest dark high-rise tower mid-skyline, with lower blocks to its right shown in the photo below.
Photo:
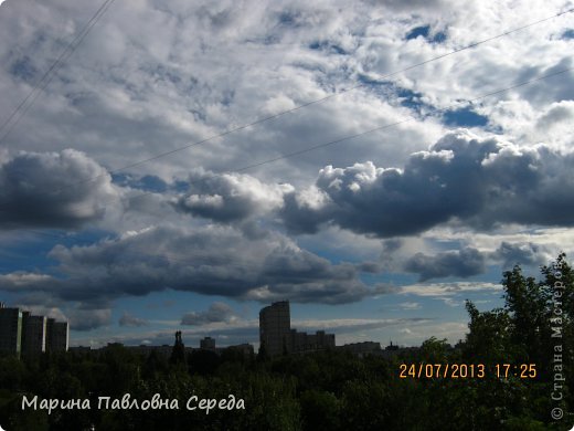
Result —
<path fill-rule="evenodd" d="M 259 348 L 273 357 L 291 350 L 289 302 L 280 301 L 259 312 Z"/>

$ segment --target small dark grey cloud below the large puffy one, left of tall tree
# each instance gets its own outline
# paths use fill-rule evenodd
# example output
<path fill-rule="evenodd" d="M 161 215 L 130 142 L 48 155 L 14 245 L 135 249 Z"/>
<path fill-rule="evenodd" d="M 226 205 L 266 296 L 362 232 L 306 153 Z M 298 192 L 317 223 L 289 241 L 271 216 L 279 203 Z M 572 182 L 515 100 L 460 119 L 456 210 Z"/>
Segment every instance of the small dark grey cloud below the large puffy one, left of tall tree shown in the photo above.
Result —
<path fill-rule="evenodd" d="M 416 253 L 406 261 L 404 269 L 419 275 L 419 281 L 447 276 L 469 277 L 486 270 L 486 256 L 476 249 L 467 248 L 429 256 Z"/>

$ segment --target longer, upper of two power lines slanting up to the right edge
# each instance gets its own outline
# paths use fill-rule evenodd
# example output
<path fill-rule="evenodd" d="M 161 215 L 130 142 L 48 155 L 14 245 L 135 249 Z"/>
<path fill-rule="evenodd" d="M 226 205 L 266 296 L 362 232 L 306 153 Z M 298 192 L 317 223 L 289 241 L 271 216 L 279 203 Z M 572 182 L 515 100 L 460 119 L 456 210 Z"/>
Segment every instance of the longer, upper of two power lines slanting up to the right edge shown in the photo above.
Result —
<path fill-rule="evenodd" d="M 560 12 L 560 13 L 556 13 L 552 17 L 548 17 L 548 18 L 543 18 L 541 20 L 538 20 L 538 21 L 534 21 L 534 22 L 530 22 L 525 25 L 522 25 L 522 27 L 519 27 L 519 28 L 515 28 L 515 29 L 512 29 L 512 30 L 509 30 L 509 31 L 506 31 L 503 33 L 500 33 L 500 34 L 497 34 L 497 35 L 493 35 L 491 38 L 488 38 L 488 39 L 483 39 L 481 41 L 478 41 L 478 42 L 474 42 L 469 45 L 465 45 L 463 48 L 459 48 L 459 49 L 456 49 L 454 51 L 449 51 L 445 54 L 442 54 L 442 55 L 437 55 L 435 57 L 432 57 L 429 60 L 425 60 L 423 62 L 419 62 L 419 63 L 415 63 L 415 64 L 412 64 L 405 69 L 402 69 L 402 70 L 398 70 L 398 71 L 395 71 L 395 72 L 392 72 L 392 73 L 387 73 L 387 74 L 384 74 L 384 75 L 380 75 L 379 76 L 379 80 L 385 80 L 385 78 L 389 78 L 389 77 L 392 77 L 392 76 L 395 76 L 400 73 L 403 73 L 403 72 L 406 72 L 406 71 L 411 71 L 415 67 L 419 67 L 422 65 L 425 65 L 425 64 L 428 64 L 428 63 L 433 63 L 435 61 L 438 61 L 440 59 L 445 59 L 449 55 L 454 55 L 456 53 L 459 53 L 459 52 L 463 52 L 463 51 L 466 51 L 466 50 L 469 50 L 469 49 L 472 49 L 472 48 L 476 48 L 478 45 L 481 45 L 483 43 L 487 43 L 487 42 L 490 42 L 490 41 L 493 41 L 496 39 L 500 39 L 500 38 L 503 38 L 503 36 L 507 36 L 509 34 L 512 34 L 512 33 L 515 33 L 518 31 L 521 31 L 521 30 L 524 30 L 524 29 L 528 29 L 530 27 L 533 27 L 533 25 L 536 25 L 536 24 L 540 24 L 542 22 L 545 22 L 545 21 L 549 21 L 549 20 L 552 20 L 552 19 L 555 19 L 557 17 L 561 17 L 563 14 L 566 14 L 566 13 L 570 13 L 574 11 L 574 8 L 573 9 L 568 9 L 568 10 L 565 10 L 563 12 Z M 205 144 L 205 143 L 209 143 L 213 139 L 216 139 L 216 138 L 222 138 L 222 137 L 225 137 L 227 135 L 231 135 L 231 134 L 234 134 L 234 133 L 237 133 L 237 132 L 241 132 L 241 130 L 244 130 L 246 128 L 249 128 L 249 127 L 253 127 L 253 126 L 256 126 L 256 125 L 259 125 L 262 123 L 266 123 L 266 122 L 269 122 L 272 119 L 276 119 L 276 118 L 279 118 L 286 114 L 290 114 L 290 113 L 294 113 L 296 111 L 299 111 L 299 109 L 302 109 L 302 108 L 306 108 L 308 106 L 311 106 L 311 105 L 316 105 L 316 104 L 320 104 L 322 102 L 326 102 L 330 98 L 333 98 L 336 96 L 339 96 L 339 95 L 342 95 L 342 94 L 346 94 L 346 93 L 349 93 L 349 92 L 352 92 L 354 90 L 358 90 L 358 88 L 361 88 L 361 87 L 364 87 L 366 86 L 368 84 L 358 84 L 358 85 L 354 85 L 352 87 L 349 87 L 349 88 L 344 88 L 344 90 L 340 90 L 336 93 L 332 93 L 328 96 L 325 96 L 325 97 L 321 97 L 321 98 L 317 98 L 317 99 L 313 99 L 313 101 L 310 101 L 310 102 L 307 102 L 307 103 L 304 103 L 301 105 L 297 105 L 290 109 L 286 109 L 286 111 L 281 111 L 280 113 L 277 113 L 277 114 L 274 114 L 274 115 L 269 115 L 267 117 L 263 117 L 263 118 L 259 118 L 259 119 L 256 119 L 252 123 L 248 123 L 248 124 L 244 124 L 242 126 L 237 126 L 237 127 L 234 127 L 234 128 L 231 128 L 231 129 L 227 129 L 225 132 L 222 132 L 222 133 L 219 133 L 219 134 L 215 134 L 215 135 L 212 135 L 208 138 L 204 138 L 204 139 L 201 139 L 201 140 L 198 140 L 198 141 L 194 141 L 194 143 L 191 143 L 191 144 L 188 144 L 188 145 L 184 145 L 183 147 L 179 147 L 179 148 L 174 148 L 174 149 L 171 149 L 171 150 L 168 150 L 168 151 L 164 151 L 164 153 L 160 153 L 160 154 L 157 154 L 155 156 L 151 156 L 147 159 L 141 159 L 141 160 L 138 160 L 138 161 L 135 161 L 135 162 L 131 162 L 129 165 L 126 165 L 126 166 L 123 166 L 120 168 L 117 168 L 117 169 L 114 169 L 114 170 L 109 170 L 108 172 L 106 174 L 102 174 L 102 175 L 98 175 L 96 177 L 93 177 L 93 178 L 89 178 L 89 179 L 86 179 L 86 180 L 83 180 L 83 181 L 79 181 L 78 183 L 84 183 L 84 182 L 92 182 L 92 181 L 96 181 L 97 179 L 102 178 L 103 176 L 109 174 L 109 175 L 114 175 L 114 174 L 118 174 L 118 172 L 121 172 L 126 169 L 129 169 L 129 168 L 134 168 L 134 167 L 137 167 L 137 166 L 140 166 L 140 165 L 144 165 L 144 164 L 147 164 L 147 162 L 150 162 L 150 161 L 153 161 L 153 160 L 157 160 L 157 159 L 160 159 L 160 158 L 163 158 L 163 157 L 167 157 L 167 156 L 170 156 L 172 154 L 176 154 L 176 153 L 179 153 L 179 151 L 182 151 L 184 149 L 189 149 L 189 148 L 192 148 L 192 147 L 195 147 L 195 146 L 199 146 L 199 145 L 202 145 L 202 144 Z"/>

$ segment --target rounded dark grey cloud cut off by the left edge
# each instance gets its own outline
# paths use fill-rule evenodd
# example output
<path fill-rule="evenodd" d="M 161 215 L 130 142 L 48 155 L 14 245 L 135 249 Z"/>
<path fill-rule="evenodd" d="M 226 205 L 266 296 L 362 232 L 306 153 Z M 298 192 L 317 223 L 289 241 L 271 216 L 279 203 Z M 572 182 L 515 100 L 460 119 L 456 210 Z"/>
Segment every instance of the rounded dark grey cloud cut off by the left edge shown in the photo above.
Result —
<path fill-rule="evenodd" d="M 21 153 L 0 166 L 0 229 L 77 228 L 116 196 L 99 165 L 73 149 Z"/>

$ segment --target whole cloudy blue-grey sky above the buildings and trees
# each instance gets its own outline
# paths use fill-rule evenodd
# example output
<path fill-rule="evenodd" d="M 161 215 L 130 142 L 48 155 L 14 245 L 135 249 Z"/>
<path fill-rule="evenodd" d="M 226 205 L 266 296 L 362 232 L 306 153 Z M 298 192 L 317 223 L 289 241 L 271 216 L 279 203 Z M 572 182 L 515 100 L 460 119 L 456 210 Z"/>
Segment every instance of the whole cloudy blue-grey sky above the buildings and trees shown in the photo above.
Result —
<path fill-rule="evenodd" d="M 283 299 L 338 345 L 464 339 L 574 255 L 572 9 L 3 2 L 0 301 L 72 346 L 258 346 Z"/>

